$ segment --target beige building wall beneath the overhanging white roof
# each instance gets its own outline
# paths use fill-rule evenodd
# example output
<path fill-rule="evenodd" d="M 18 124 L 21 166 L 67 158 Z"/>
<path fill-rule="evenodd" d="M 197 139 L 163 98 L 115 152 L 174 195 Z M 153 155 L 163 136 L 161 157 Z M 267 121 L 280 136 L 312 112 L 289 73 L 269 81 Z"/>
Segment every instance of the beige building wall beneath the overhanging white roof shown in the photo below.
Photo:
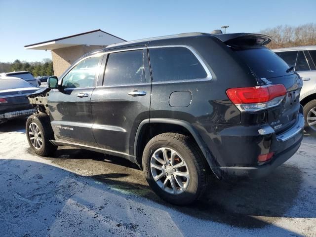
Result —
<path fill-rule="evenodd" d="M 59 77 L 66 71 L 83 54 L 91 52 L 95 49 L 104 48 L 104 45 L 78 45 L 66 48 L 59 48 L 51 50 L 53 59 L 54 75 Z"/>

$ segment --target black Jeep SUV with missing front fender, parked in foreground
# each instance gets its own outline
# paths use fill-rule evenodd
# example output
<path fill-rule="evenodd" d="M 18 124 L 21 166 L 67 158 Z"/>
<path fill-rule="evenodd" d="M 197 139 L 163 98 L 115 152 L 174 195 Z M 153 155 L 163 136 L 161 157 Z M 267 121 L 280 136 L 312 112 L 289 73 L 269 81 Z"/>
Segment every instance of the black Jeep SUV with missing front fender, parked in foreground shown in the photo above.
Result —
<path fill-rule="evenodd" d="M 258 34 L 188 33 L 110 45 L 29 96 L 36 154 L 73 146 L 127 158 L 178 205 L 211 177 L 260 177 L 303 139 L 300 77 Z"/>

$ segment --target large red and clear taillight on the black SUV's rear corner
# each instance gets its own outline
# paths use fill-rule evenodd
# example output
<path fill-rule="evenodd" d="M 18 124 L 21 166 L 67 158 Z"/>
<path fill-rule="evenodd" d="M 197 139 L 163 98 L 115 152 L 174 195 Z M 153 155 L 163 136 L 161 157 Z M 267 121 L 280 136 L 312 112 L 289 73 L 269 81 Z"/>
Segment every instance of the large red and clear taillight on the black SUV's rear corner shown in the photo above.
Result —
<path fill-rule="evenodd" d="M 240 111 L 260 111 L 279 105 L 286 92 L 284 85 L 276 84 L 231 88 L 226 94 Z"/>

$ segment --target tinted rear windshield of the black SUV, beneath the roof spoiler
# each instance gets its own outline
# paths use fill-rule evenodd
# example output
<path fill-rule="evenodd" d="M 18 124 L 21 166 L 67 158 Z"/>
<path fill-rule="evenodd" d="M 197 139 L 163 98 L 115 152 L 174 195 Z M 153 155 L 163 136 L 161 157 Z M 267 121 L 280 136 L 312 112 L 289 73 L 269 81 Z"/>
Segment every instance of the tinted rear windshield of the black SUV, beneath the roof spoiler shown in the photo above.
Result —
<path fill-rule="evenodd" d="M 268 48 L 232 49 L 259 78 L 276 78 L 293 74 L 286 72 L 289 66 Z"/>

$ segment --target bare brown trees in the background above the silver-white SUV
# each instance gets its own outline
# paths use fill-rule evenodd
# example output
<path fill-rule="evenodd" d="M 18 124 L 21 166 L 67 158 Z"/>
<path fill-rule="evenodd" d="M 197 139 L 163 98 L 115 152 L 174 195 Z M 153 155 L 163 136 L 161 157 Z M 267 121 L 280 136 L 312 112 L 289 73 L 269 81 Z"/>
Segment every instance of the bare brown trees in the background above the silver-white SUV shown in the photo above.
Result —
<path fill-rule="evenodd" d="M 268 35 L 272 41 L 269 48 L 284 48 L 303 45 L 316 45 L 316 24 L 308 23 L 297 27 L 279 25 L 260 31 Z"/>

